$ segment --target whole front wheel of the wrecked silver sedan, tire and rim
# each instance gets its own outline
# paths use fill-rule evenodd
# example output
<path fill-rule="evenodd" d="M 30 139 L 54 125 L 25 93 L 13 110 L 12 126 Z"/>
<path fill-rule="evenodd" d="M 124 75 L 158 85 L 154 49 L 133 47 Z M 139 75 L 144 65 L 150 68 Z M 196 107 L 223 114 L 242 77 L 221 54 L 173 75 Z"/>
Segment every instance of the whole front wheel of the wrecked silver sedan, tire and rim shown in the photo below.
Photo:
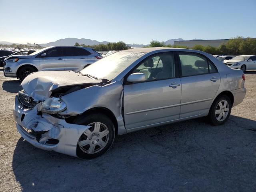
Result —
<path fill-rule="evenodd" d="M 94 113 L 80 116 L 75 124 L 91 126 L 79 138 L 76 154 L 80 158 L 91 159 L 104 154 L 115 138 L 114 124 L 104 114 Z"/>

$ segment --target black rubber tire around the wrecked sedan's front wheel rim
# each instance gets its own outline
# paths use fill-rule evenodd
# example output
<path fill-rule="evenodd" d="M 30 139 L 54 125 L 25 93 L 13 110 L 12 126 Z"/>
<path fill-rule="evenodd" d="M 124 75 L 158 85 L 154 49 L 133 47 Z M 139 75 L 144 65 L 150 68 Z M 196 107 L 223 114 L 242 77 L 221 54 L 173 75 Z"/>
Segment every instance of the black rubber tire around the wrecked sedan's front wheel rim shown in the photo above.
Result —
<path fill-rule="evenodd" d="M 89 125 L 89 124 L 92 124 L 94 122 L 100 122 L 102 125 L 106 126 L 108 128 L 108 132 L 109 132 L 109 135 L 106 136 L 108 137 L 108 140 L 104 143 L 106 143 L 106 146 L 104 146 L 104 148 L 100 149 L 100 151 L 98 152 L 94 152 L 92 154 L 88 153 L 89 149 L 87 148 L 90 148 L 90 145 L 92 144 L 88 144 L 86 146 L 83 146 L 83 147 L 80 147 L 79 145 L 79 142 L 81 141 L 88 141 L 88 142 L 91 142 L 91 141 L 95 141 L 96 142 L 96 139 L 97 139 L 97 142 L 98 142 L 98 138 L 96 136 L 98 135 L 95 135 L 95 136 L 92 136 L 92 137 L 96 137 L 96 138 L 93 138 L 92 140 L 89 141 L 89 137 L 87 137 L 84 133 L 80 136 L 79 140 L 78 140 L 78 144 L 76 146 L 76 155 L 79 157 L 79 158 L 84 158 L 84 159 L 92 159 L 92 158 L 96 158 L 98 156 L 101 156 L 102 154 L 104 154 L 105 152 L 108 151 L 108 149 L 112 146 L 113 142 L 114 142 L 114 138 L 115 138 L 115 128 L 114 128 L 114 124 L 113 122 L 110 120 L 110 118 L 108 118 L 107 116 L 105 116 L 104 114 L 102 113 L 92 113 L 92 114 L 89 114 L 89 115 L 86 115 L 86 116 L 79 116 L 75 121 L 74 123 L 75 124 L 80 124 L 80 125 Z M 89 128 L 90 132 L 94 132 L 94 127 L 92 126 L 91 128 Z M 96 132 L 95 132 L 96 133 Z M 91 138 L 92 138 L 91 137 Z M 103 140 L 104 138 L 102 138 Z M 100 141 L 102 141 L 100 140 Z M 94 144 L 95 146 L 95 150 L 97 147 L 100 148 L 100 146 L 98 146 L 97 144 Z M 88 150 L 86 152 L 86 150 Z"/>

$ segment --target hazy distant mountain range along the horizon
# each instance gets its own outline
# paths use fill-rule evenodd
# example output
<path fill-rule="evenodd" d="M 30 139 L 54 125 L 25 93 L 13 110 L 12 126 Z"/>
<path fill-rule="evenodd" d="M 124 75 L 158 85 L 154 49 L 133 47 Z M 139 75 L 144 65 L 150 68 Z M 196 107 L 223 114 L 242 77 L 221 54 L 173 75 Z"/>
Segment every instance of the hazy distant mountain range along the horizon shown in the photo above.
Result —
<path fill-rule="evenodd" d="M 192 39 L 192 40 L 202 40 L 202 39 Z M 178 38 L 178 39 L 169 39 L 167 41 L 165 41 L 164 43 L 166 45 L 168 44 L 171 44 L 173 45 L 174 44 L 174 41 L 184 41 L 184 39 L 182 38 Z M 97 45 L 97 44 L 107 44 L 109 43 L 108 41 L 102 41 L 102 42 L 99 42 L 99 41 L 96 41 L 96 40 L 90 40 L 90 39 L 85 39 L 85 38 L 81 38 L 81 39 L 78 39 L 78 38 L 65 38 L 65 39 L 59 39 L 59 40 L 56 40 L 54 42 L 49 42 L 49 43 L 42 43 L 42 44 L 39 44 L 40 46 L 43 46 L 43 47 L 48 47 L 48 46 L 58 46 L 58 45 L 68 45 L 68 46 L 73 46 L 76 42 L 78 42 L 79 44 L 85 44 L 85 45 Z M 7 41 L 0 41 L 0 44 L 13 44 L 11 42 L 7 42 Z M 15 43 L 15 44 L 18 44 L 18 43 Z M 147 46 L 147 45 L 144 45 L 144 44 L 127 44 L 128 46 L 131 46 L 131 47 L 144 47 L 144 46 Z"/>

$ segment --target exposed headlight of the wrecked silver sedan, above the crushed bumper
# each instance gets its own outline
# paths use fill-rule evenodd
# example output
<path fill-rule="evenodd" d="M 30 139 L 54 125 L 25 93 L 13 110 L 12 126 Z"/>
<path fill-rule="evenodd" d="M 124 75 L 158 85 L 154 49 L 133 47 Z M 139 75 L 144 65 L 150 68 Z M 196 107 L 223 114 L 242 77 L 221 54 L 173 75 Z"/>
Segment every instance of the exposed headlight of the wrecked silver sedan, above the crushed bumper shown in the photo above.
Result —
<path fill-rule="evenodd" d="M 66 104 L 60 98 L 51 97 L 41 102 L 38 105 L 37 110 L 45 113 L 56 114 L 66 110 L 66 108 Z"/>

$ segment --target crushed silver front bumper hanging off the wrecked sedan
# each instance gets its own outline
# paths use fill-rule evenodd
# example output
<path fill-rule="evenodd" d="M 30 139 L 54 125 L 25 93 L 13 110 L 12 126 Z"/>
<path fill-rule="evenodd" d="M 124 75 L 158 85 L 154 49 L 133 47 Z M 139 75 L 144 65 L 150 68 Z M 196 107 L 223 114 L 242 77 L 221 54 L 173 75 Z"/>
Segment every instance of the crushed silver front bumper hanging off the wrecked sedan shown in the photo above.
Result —
<path fill-rule="evenodd" d="M 45 113 L 38 115 L 37 107 L 23 108 L 16 96 L 13 115 L 21 136 L 37 148 L 76 156 L 78 139 L 90 126 L 69 124 L 64 119 Z"/>

